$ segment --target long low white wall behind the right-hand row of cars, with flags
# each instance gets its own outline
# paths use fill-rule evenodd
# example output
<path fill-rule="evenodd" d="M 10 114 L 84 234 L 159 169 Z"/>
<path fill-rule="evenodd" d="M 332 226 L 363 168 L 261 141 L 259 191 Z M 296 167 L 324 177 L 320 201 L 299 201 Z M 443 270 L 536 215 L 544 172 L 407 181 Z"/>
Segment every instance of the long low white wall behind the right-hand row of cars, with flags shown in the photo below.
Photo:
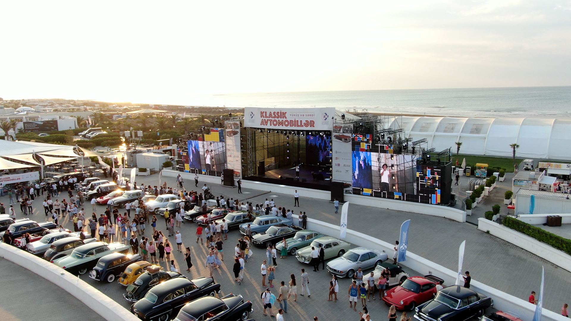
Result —
<path fill-rule="evenodd" d="M 321 232 L 326 235 L 331 235 L 334 237 L 339 237 L 339 226 L 333 224 L 321 222 L 320 220 L 307 219 L 307 228 Z M 389 257 L 389 262 L 392 261 L 393 254 L 393 244 L 384 242 L 383 240 L 372 238 L 369 235 L 361 234 L 360 232 L 347 230 L 347 237 L 344 239 L 346 242 L 356 244 L 357 246 L 364 246 L 367 248 L 373 248 L 375 250 L 381 250 L 387 253 Z M 460 244 L 458 244 L 460 245 Z M 407 251 L 407 260 L 400 263 L 404 266 L 412 268 L 415 271 L 420 272 L 421 275 L 432 274 L 439 278 L 444 279 L 444 285 L 450 286 L 456 283 L 456 271 L 452 271 L 449 268 L 445 268 L 440 264 L 431 262 L 419 255 L 416 255 L 410 251 Z M 502 311 L 513 311 L 521 316 L 523 320 L 533 319 L 533 314 L 535 312 L 535 305 L 517 298 L 516 296 L 509 295 L 505 292 L 497 290 L 493 287 L 487 286 L 481 282 L 472 279 L 470 283 L 470 288 L 481 294 L 490 296 L 494 300 L 494 308 Z M 569 320 L 564 316 L 546 310 L 542 310 L 542 320 L 546 321 L 565 321 Z"/>

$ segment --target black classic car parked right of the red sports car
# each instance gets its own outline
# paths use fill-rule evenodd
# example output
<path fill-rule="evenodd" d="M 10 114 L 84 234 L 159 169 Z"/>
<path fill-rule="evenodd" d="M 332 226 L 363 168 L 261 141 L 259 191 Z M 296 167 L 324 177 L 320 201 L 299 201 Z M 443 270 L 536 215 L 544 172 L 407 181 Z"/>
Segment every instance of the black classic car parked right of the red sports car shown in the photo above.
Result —
<path fill-rule="evenodd" d="M 492 298 L 463 286 L 449 286 L 440 290 L 436 297 L 415 308 L 415 319 L 421 321 L 467 320 L 480 318 L 486 308 L 493 306 Z"/>

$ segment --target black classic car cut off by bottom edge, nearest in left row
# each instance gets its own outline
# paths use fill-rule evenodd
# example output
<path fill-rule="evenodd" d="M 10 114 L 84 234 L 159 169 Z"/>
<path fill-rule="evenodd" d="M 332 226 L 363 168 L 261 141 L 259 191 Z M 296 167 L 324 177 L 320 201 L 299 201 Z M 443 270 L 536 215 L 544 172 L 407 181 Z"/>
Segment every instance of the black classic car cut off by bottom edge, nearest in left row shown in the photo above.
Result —
<path fill-rule="evenodd" d="M 246 321 L 252 312 L 252 302 L 244 302 L 242 295 L 205 296 L 185 304 L 174 321 Z"/>

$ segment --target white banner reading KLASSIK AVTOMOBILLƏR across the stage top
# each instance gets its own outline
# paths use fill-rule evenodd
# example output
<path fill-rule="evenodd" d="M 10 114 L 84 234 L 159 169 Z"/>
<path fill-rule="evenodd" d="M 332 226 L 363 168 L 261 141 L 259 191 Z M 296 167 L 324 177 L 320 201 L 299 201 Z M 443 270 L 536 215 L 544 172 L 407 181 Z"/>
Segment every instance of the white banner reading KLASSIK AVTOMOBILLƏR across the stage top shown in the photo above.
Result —
<path fill-rule="evenodd" d="M 332 130 L 335 108 L 246 107 L 244 126 L 266 129 Z"/>

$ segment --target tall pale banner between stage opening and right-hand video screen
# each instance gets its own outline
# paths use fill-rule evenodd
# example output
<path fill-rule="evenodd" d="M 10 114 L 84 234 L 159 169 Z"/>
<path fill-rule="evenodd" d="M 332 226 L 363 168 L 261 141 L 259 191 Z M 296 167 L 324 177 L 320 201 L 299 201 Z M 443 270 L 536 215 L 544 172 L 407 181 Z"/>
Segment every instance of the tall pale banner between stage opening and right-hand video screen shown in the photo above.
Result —
<path fill-rule="evenodd" d="M 333 140 L 331 144 L 333 181 L 353 182 L 351 135 L 352 124 L 336 123 L 333 125 Z"/>

